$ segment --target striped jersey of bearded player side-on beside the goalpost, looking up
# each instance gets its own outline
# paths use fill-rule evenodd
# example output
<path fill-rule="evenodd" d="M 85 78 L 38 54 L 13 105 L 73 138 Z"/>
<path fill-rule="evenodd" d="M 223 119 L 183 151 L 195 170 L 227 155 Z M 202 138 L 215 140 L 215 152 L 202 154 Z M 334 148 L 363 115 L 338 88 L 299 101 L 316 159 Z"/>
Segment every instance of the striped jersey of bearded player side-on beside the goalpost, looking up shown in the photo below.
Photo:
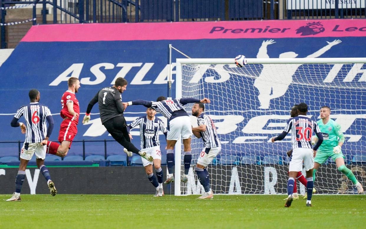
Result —
<path fill-rule="evenodd" d="M 216 127 L 212 119 L 208 115 L 206 115 L 205 113 L 201 113 L 201 115 L 197 117 L 197 124 L 198 126 L 206 125 L 206 131 L 199 132 L 199 135 L 201 135 L 201 138 L 205 143 L 206 148 L 221 146 L 220 139 L 217 136 Z"/>

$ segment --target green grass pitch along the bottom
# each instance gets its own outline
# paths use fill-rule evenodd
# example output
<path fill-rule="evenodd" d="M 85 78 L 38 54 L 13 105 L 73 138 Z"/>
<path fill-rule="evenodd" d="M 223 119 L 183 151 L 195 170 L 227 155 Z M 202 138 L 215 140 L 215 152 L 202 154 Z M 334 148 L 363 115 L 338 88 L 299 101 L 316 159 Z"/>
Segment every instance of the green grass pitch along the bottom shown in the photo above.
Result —
<path fill-rule="evenodd" d="M 365 228 L 365 195 L 0 195 L 0 228 Z"/>

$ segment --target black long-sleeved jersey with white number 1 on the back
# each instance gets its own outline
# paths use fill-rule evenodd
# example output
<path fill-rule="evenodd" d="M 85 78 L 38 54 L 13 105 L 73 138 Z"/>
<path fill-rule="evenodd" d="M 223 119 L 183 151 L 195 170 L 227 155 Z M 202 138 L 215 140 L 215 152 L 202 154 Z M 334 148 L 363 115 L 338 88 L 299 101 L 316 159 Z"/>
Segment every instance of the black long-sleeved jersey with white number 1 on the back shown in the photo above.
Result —
<path fill-rule="evenodd" d="M 99 90 L 89 102 L 86 113 L 90 113 L 97 102 L 102 124 L 114 117 L 123 116 L 122 94 L 115 87 L 104 87 Z"/>

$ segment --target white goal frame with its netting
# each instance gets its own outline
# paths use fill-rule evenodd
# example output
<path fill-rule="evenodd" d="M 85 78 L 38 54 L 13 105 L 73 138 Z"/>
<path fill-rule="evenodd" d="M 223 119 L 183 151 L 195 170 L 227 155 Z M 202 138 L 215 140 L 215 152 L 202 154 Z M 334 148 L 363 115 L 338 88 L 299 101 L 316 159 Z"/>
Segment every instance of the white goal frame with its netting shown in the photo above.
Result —
<path fill-rule="evenodd" d="M 290 134 L 272 143 L 290 118 L 291 107 L 309 106 L 307 115 L 320 119 L 322 106 L 340 124 L 347 168 L 366 185 L 366 58 L 176 59 L 176 98 L 203 98 L 205 113 L 214 121 L 221 153 L 208 166 L 214 194 L 286 194 Z M 185 106 L 191 115 L 192 104 Z M 192 117 L 192 125 L 197 119 Z M 183 144 L 175 149 L 175 195 L 204 192 L 194 166 L 204 149 L 192 138 L 188 182 L 183 174 Z M 305 170 L 302 171 L 306 176 Z M 298 193 L 305 187 L 297 181 Z M 317 170 L 314 187 L 320 194 L 354 194 L 355 186 L 327 159 Z"/>

